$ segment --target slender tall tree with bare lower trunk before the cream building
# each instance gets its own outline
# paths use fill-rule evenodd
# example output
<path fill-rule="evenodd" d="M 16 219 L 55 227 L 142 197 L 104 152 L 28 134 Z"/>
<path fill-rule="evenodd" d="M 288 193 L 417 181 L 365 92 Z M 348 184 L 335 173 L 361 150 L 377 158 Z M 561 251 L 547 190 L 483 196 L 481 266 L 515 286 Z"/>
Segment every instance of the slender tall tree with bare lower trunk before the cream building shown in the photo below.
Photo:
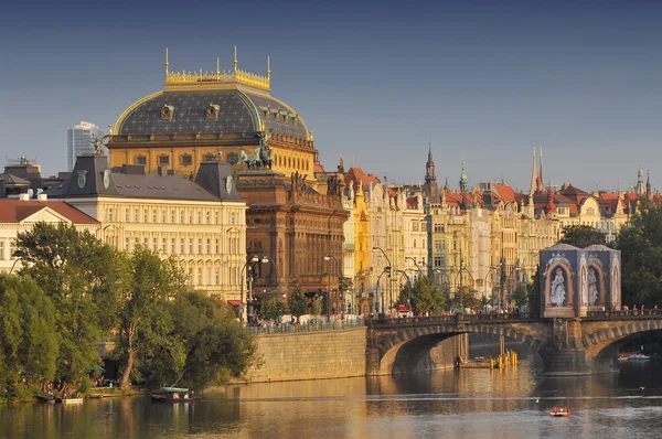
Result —
<path fill-rule="evenodd" d="M 162 343 L 161 308 L 185 291 L 185 276 L 172 259 L 161 260 L 158 254 L 138 246 L 130 259 L 127 297 L 120 311 L 119 345 L 124 373 L 121 387 L 131 384 L 136 353 Z"/>

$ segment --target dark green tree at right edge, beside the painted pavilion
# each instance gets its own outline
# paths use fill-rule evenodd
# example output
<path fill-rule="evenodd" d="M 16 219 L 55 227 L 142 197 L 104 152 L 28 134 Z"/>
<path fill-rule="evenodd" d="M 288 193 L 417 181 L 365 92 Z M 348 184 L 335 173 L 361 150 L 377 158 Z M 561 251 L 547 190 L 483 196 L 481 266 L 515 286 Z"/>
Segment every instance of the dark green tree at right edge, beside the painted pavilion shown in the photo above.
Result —
<path fill-rule="evenodd" d="M 662 206 L 641 199 L 616 248 L 621 250 L 622 303 L 662 303 Z"/>

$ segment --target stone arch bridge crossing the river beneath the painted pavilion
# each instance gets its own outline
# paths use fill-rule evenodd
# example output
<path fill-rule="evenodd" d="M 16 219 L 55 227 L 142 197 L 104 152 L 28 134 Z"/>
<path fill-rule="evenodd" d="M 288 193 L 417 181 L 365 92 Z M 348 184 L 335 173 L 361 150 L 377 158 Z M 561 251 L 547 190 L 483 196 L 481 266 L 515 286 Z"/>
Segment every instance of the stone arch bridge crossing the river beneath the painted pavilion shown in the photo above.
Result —
<path fill-rule="evenodd" d="M 618 371 L 623 344 L 660 332 L 662 310 L 589 312 L 585 318 L 458 314 L 367 322 L 366 374 L 402 373 L 441 341 L 466 333 L 504 335 L 540 354 L 546 375 Z"/>

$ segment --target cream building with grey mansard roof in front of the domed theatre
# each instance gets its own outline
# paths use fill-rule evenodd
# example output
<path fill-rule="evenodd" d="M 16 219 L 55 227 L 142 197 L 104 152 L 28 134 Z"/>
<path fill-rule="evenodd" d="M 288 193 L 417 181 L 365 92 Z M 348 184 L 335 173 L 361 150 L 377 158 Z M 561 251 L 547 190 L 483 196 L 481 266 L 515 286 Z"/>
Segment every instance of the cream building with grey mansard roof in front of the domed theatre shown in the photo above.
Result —
<path fill-rule="evenodd" d="M 136 165 L 111 172 L 105 156 L 82 156 L 70 180 L 46 193 L 98 221 L 104 242 L 172 257 L 195 289 L 238 304 L 246 203 L 226 164 L 204 162 L 190 181 Z"/>

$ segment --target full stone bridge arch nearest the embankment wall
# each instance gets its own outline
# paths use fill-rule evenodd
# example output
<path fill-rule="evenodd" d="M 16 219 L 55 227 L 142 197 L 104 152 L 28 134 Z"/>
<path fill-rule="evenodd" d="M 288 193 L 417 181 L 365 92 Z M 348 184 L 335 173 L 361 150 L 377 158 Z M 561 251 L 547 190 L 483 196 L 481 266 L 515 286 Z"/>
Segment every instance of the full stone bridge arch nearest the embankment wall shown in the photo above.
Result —
<path fill-rule="evenodd" d="M 374 372 L 378 375 L 389 375 L 434 368 L 430 351 L 445 340 L 468 333 L 503 335 L 524 343 L 541 354 L 545 341 L 536 338 L 531 326 L 531 324 L 526 328 L 517 328 L 516 324 L 430 324 L 380 331 L 374 339 L 378 360 L 377 371 Z"/>

